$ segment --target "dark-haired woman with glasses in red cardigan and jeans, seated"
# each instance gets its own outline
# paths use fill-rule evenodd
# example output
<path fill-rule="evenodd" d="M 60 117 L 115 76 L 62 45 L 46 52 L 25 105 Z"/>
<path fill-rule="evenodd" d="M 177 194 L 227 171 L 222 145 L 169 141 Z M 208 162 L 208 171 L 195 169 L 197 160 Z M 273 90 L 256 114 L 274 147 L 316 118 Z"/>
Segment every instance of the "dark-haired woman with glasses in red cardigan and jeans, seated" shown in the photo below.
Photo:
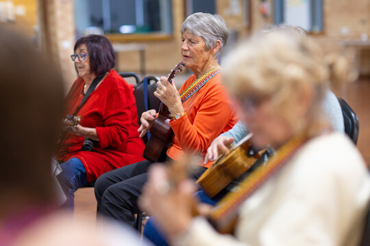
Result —
<path fill-rule="evenodd" d="M 66 114 L 81 115 L 82 120 L 66 127 L 57 154 L 63 169 L 58 180 L 69 208 L 79 187 L 112 169 L 143 161 L 145 148 L 136 131 L 133 88 L 112 70 L 112 44 L 104 36 L 90 35 L 77 40 L 74 51 L 71 58 L 79 77 L 66 96 Z M 82 103 L 85 94 L 88 99 Z"/>

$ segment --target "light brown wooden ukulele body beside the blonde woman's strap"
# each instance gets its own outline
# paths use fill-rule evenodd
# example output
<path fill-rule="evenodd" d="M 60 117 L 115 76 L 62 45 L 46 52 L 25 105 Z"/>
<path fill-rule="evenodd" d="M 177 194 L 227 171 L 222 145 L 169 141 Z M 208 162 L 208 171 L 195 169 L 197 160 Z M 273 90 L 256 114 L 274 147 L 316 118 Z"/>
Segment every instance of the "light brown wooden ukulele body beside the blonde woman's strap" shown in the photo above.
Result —
<path fill-rule="evenodd" d="M 255 152 L 251 148 L 251 137 L 252 134 L 249 133 L 237 144 L 230 146 L 230 153 L 221 154 L 213 165 L 198 178 L 197 184 L 209 197 L 214 197 L 227 184 L 245 174 L 260 158 L 263 150 Z"/>

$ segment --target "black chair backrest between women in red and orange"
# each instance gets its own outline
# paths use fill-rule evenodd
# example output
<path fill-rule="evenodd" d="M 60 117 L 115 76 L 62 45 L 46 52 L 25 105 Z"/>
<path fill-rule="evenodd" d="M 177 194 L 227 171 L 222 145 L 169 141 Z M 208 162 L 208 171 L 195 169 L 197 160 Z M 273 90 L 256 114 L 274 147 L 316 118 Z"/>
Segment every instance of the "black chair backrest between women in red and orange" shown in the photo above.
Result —
<path fill-rule="evenodd" d="M 157 89 L 157 81 L 160 79 L 158 77 L 154 76 L 148 76 L 143 79 L 140 83 L 138 83 L 134 90 L 134 96 L 136 100 L 136 109 L 138 109 L 138 123 L 140 123 L 140 117 L 141 114 L 144 111 L 147 111 L 149 109 L 156 109 L 158 111 L 160 107 L 160 100 L 154 96 L 154 92 Z M 153 82 L 153 83 L 151 83 Z M 145 83 L 147 85 L 147 95 L 145 96 Z M 145 103 L 145 100 L 147 100 L 147 105 Z M 146 144 L 148 141 L 147 135 L 143 137 L 143 141 Z"/>

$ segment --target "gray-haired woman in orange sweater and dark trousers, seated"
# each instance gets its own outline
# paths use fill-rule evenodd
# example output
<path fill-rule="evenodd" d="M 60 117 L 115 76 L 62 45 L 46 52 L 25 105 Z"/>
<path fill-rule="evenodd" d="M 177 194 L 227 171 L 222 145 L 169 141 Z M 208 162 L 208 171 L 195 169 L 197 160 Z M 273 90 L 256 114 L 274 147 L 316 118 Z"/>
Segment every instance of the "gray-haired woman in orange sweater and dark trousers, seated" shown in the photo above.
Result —
<path fill-rule="evenodd" d="M 221 68 L 217 57 L 227 42 L 225 21 L 217 15 L 195 13 L 182 24 L 181 53 L 191 75 L 177 92 L 165 77 L 154 92 L 167 105 L 173 119 L 169 122 L 174 132 L 167 159 L 179 159 L 183 150 L 203 156 L 212 140 L 228 131 L 237 122 L 234 107 L 220 83 Z M 153 121 L 156 111 L 144 112 L 138 129 L 143 136 Z M 140 212 L 136 201 L 147 181 L 150 161 L 142 161 L 108 172 L 95 184 L 98 213 L 134 226 L 134 214 Z M 201 166 L 191 174 L 198 178 L 208 166 Z"/>

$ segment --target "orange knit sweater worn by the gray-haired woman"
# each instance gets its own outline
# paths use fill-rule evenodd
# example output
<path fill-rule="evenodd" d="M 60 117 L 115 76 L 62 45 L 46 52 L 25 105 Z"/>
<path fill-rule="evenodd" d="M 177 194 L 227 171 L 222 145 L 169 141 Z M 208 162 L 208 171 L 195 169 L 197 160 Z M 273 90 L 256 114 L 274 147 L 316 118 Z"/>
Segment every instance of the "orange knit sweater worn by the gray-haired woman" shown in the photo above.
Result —
<path fill-rule="evenodd" d="M 195 75 L 190 76 L 180 88 L 180 93 L 186 90 L 195 79 Z M 182 104 L 184 115 L 170 121 L 175 133 L 172 145 L 167 150 L 167 155 L 171 159 L 179 159 L 183 150 L 198 152 L 205 156 L 213 139 L 229 131 L 238 121 L 232 100 L 220 80 L 221 73 L 210 79 Z M 212 163 L 208 163 L 205 167 L 210 165 Z"/>

